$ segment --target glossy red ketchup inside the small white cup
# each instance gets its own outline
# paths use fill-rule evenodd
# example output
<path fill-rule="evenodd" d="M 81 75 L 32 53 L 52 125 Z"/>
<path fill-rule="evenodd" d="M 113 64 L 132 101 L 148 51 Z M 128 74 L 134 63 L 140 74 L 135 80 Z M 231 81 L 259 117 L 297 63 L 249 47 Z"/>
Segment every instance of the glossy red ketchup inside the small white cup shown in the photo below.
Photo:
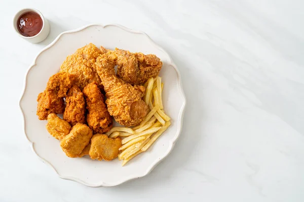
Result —
<path fill-rule="evenodd" d="M 23 36 L 34 36 L 42 29 L 43 22 L 39 14 L 26 12 L 17 21 L 17 28 Z"/>

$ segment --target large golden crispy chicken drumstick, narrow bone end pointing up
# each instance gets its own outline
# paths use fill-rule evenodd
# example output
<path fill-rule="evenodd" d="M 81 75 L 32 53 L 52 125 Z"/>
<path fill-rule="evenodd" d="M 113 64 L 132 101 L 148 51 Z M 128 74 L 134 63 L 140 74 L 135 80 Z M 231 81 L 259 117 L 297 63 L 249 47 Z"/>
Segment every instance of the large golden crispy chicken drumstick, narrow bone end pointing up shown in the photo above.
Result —
<path fill-rule="evenodd" d="M 141 99 L 143 86 L 123 81 L 115 74 L 115 63 L 106 54 L 96 60 L 96 69 L 106 92 L 108 112 L 124 126 L 136 126 L 146 116 L 148 106 Z"/>

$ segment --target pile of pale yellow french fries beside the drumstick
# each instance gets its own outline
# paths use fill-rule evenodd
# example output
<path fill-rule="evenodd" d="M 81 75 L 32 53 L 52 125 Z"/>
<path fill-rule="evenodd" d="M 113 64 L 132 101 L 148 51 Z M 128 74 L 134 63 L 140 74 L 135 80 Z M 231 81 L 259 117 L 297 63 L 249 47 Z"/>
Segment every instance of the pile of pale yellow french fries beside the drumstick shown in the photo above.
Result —
<path fill-rule="evenodd" d="M 164 83 L 161 77 L 149 78 L 144 84 L 144 102 L 149 106 L 150 112 L 143 121 L 133 128 L 113 127 L 106 133 L 111 138 L 122 137 L 119 160 L 122 166 L 128 161 L 147 150 L 170 126 L 170 117 L 164 112 L 162 91 Z"/>

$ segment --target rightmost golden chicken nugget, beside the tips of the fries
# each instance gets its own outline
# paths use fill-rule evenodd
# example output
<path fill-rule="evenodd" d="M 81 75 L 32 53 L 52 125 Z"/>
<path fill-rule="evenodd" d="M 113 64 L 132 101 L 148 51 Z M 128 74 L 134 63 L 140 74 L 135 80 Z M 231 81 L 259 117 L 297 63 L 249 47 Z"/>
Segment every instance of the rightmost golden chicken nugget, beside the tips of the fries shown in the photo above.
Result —
<path fill-rule="evenodd" d="M 99 161 L 111 161 L 118 157 L 119 148 L 122 146 L 122 139 L 109 138 L 107 135 L 95 134 L 91 139 L 90 158 Z"/>

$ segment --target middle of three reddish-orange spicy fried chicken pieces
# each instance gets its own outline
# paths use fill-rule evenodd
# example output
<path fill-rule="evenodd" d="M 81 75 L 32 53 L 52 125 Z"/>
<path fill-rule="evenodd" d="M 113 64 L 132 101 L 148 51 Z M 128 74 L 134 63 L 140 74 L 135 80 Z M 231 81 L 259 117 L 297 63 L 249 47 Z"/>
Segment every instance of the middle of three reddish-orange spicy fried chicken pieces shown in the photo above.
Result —
<path fill-rule="evenodd" d="M 78 86 L 72 86 L 65 98 L 65 111 L 63 119 L 72 126 L 77 123 L 86 123 L 86 103 L 85 97 Z"/>

